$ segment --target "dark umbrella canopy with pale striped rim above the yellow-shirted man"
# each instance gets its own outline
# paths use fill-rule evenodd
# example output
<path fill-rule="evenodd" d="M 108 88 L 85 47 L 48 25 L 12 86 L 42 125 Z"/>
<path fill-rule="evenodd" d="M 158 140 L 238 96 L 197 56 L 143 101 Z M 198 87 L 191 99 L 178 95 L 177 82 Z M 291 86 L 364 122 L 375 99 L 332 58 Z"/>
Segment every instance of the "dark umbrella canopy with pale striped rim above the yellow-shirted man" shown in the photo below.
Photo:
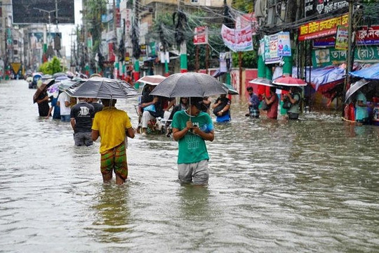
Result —
<path fill-rule="evenodd" d="M 74 84 L 66 93 L 76 98 L 131 98 L 140 94 L 130 84 L 105 77 L 92 77 Z"/>

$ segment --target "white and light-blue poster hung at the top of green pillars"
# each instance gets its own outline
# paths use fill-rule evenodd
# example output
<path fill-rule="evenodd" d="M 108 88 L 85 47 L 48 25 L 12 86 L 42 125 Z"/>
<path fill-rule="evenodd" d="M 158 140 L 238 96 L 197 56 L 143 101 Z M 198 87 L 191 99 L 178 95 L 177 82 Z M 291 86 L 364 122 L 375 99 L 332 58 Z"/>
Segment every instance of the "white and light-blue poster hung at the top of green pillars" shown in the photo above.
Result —
<path fill-rule="evenodd" d="M 265 64 L 279 63 L 282 56 L 291 56 L 291 41 L 289 32 L 279 32 L 264 37 Z"/>

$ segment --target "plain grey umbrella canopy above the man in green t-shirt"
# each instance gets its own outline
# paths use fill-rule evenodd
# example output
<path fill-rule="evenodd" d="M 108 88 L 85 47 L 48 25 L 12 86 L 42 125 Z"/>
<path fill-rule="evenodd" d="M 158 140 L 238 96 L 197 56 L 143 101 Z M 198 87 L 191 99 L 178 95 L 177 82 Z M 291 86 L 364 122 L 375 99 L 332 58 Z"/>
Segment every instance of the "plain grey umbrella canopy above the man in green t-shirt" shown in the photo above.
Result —
<path fill-rule="evenodd" d="M 150 93 L 154 96 L 198 97 L 227 94 L 227 87 L 209 74 L 187 72 L 171 74 Z"/>

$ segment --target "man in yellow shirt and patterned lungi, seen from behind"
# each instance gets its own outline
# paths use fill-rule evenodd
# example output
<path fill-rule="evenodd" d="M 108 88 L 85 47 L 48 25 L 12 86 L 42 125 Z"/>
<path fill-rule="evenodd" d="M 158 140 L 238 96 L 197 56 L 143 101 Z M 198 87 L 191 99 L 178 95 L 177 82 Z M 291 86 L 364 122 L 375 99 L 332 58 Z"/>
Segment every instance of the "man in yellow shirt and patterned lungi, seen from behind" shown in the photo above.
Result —
<path fill-rule="evenodd" d="M 104 108 L 95 114 L 92 124 L 92 139 L 100 140 L 100 170 L 104 183 L 116 174 L 116 183 L 121 185 L 128 178 L 125 138 L 134 138 L 134 129 L 128 114 L 114 107 L 117 100 L 102 99 Z"/>

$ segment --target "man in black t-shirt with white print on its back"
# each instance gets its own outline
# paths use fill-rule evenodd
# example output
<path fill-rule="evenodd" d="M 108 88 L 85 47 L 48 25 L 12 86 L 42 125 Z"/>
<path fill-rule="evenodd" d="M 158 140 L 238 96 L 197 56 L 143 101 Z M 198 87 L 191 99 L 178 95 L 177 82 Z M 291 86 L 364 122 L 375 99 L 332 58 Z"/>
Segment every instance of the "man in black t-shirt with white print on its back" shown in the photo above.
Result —
<path fill-rule="evenodd" d="M 79 103 L 71 108 L 71 126 L 74 130 L 75 145 L 92 145 L 92 121 L 95 108 L 86 102 L 86 98 L 79 98 Z"/>

